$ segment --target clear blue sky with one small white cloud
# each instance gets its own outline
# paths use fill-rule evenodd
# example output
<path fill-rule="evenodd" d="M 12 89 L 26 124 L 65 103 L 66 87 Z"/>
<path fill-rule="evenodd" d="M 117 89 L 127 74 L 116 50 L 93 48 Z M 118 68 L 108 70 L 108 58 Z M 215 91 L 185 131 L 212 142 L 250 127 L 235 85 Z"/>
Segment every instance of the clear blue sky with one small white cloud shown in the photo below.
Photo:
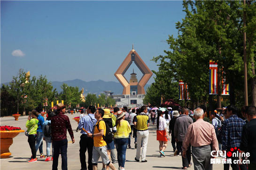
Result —
<path fill-rule="evenodd" d="M 185 17 L 182 1 L 0 1 L 1 83 L 20 68 L 48 81 L 117 81 L 134 49 L 150 70 Z M 17 51 L 20 50 L 20 51 Z M 132 69 L 142 76 L 135 64 Z M 153 76 L 148 84 L 154 82 Z"/>

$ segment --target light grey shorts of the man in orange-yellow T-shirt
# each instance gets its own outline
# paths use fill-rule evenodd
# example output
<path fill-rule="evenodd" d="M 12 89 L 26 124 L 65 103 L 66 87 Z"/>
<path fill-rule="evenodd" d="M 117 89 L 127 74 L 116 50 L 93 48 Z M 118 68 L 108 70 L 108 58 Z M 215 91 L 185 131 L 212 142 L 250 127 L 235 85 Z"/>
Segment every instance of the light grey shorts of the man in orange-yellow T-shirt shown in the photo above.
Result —
<path fill-rule="evenodd" d="M 109 156 L 107 152 L 107 146 L 104 147 L 94 147 L 93 146 L 93 159 L 92 159 L 92 164 L 97 165 L 98 161 L 101 157 L 102 163 L 104 165 L 109 165 Z"/>

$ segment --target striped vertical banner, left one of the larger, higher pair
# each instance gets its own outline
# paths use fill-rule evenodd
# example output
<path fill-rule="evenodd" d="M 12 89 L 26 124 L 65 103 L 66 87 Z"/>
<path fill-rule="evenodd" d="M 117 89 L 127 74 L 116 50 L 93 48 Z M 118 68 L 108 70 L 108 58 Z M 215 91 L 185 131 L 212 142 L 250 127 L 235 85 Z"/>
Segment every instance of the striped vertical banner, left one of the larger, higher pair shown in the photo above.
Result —
<path fill-rule="evenodd" d="M 218 94 L 218 64 L 217 62 L 214 62 L 210 60 L 209 62 L 209 94 L 210 95 L 217 95 Z"/>

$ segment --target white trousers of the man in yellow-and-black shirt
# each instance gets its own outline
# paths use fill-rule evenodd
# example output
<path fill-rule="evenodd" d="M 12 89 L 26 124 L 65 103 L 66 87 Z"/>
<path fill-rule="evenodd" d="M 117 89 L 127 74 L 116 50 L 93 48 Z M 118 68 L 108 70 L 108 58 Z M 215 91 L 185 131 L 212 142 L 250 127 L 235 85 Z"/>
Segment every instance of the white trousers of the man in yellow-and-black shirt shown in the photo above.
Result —
<path fill-rule="evenodd" d="M 136 151 L 136 159 L 140 160 L 140 148 L 142 143 L 142 153 L 141 153 L 141 160 L 146 160 L 146 153 L 147 153 L 147 141 L 148 141 L 149 132 L 146 131 L 137 131 L 137 137 L 138 137 L 138 145 L 137 145 L 137 151 Z"/>

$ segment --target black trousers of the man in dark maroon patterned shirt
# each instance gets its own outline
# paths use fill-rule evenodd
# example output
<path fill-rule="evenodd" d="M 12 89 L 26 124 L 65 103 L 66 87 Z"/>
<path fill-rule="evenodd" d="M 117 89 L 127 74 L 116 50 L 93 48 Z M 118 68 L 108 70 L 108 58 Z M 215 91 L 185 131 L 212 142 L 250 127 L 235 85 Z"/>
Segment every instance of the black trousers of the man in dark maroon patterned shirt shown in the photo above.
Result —
<path fill-rule="evenodd" d="M 62 170 L 68 170 L 68 157 L 67 157 L 67 151 L 68 151 L 68 140 L 58 140 L 53 141 L 54 146 L 54 160 L 53 160 L 53 170 L 58 170 L 58 160 L 60 153 L 58 152 L 61 149 L 61 155 L 62 155 Z M 57 152 L 56 152 L 57 151 Z"/>

